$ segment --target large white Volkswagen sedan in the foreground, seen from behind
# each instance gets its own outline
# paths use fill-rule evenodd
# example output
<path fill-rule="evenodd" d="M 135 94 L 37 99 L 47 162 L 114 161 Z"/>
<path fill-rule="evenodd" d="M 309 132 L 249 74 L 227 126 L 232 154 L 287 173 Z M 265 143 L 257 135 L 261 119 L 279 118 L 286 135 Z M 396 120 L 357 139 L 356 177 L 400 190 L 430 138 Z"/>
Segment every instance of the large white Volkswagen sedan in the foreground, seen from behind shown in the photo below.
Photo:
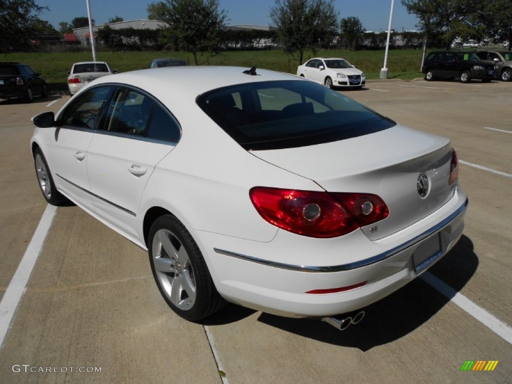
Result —
<path fill-rule="evenodd" d="M 412 281 L 462 233 L 449 139 L 298 76 L 126 72 L 33 122 L 45 199 L 147 249 L 162 296 L 190 321 L 225 302 L 347 313 Z"/>

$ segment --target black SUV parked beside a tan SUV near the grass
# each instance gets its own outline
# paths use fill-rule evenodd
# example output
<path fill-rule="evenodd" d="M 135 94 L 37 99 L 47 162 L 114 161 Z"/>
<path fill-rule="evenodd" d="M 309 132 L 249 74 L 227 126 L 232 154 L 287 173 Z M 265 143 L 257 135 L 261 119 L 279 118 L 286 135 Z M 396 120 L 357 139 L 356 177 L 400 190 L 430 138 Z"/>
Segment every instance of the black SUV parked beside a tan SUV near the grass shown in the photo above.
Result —
<path fill-rule="evenodd" d="M 437 77 L 458 77 L 461 82 L 470 82 L 471 79 L 488 82 L 493 79 L 496 68 L 494 62 L 481 60 L 474 52 L 441 51 L 429 53 L 421 72 L 428 81 Z"/>

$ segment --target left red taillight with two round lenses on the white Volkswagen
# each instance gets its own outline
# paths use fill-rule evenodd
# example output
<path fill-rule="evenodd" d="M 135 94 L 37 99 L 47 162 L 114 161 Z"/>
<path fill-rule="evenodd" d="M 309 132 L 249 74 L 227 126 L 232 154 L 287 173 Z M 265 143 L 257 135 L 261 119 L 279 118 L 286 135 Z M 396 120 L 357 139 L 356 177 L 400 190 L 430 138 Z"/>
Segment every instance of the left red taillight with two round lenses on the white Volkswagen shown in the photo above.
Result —
<path fill-rule="evenodd" d="M 376 195 L 253 187 L 252 204 L 276 227 L 313 238 L 333 238 L 385 219 L 386 204 Z"/>

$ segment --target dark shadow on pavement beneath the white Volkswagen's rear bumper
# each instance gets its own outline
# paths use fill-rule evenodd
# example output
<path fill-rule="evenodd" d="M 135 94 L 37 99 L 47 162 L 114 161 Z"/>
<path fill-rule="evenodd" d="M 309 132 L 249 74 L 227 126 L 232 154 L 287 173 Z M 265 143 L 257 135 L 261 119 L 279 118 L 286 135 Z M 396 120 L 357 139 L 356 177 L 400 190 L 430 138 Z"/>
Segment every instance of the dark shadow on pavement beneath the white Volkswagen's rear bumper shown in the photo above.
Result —
<path fill-rule="evenodd" d="M 478 257 L 472 241 L 462 236 L 430 272 L 459 291 L 478 268 Z M 366 308 L 365 318 L 345 331 L 319 319 L 291 319 L 262 313 L 258 321 L 323 343 L 368 351 L 397 340 L 420 327 L 435 315 L 450 298 L 438 293 L 421 279 L 399 289 Z M 222 311 L 224 312 L 224 311 Z"/>

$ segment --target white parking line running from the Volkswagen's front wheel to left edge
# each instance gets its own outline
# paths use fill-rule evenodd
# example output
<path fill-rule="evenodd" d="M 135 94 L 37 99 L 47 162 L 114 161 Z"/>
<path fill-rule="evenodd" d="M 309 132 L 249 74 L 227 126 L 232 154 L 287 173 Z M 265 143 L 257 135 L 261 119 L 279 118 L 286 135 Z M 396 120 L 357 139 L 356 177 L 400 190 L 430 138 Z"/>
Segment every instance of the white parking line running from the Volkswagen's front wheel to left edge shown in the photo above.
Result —
<path fill-rule="evenodd" d="M 2 297 L 2 302 L 0 302 L 0 349 L 4 344 L 4 338 L 7 335 L 18 304 L 25 293 L 32 268 L 35 265 L 39 253 L 41 253 L 42 246 L 45 244 L 46 236 L 52 225 L 56 211 L 57 207 L 49 204 L 46 206 L 45 212 L 42 214 L 41 220 L 23 255 L 22 261 L 19 262 L 18 269 L 16 269 Z"/>

